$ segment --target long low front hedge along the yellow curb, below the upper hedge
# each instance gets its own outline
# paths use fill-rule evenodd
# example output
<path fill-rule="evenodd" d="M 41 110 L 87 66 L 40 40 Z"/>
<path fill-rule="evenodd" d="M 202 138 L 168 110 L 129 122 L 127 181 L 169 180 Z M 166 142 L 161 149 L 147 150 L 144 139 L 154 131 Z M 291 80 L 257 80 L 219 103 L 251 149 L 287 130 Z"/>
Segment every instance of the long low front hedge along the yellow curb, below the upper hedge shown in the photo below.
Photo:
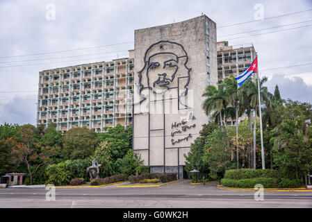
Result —
<path fill-rule="evenodd" d="M 286 178 L 251 178 L 232 180 L 223 178 L 221 183 L 224 187 L 253 188 L 255 185 L 263 185 L 263 188 L 295 188 L 302 187 L 299 180 L 288 180 Z"/>

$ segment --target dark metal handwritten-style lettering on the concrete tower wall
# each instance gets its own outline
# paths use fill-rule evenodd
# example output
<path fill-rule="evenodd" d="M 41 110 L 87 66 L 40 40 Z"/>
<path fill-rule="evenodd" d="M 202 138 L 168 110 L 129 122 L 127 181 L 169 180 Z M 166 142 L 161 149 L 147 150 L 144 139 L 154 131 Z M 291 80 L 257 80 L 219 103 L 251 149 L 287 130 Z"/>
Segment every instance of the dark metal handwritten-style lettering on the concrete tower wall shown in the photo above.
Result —
<path fill-rule="evenodd" d="M 195 128 L 196 124 L 193 123 L 191 125 L 186 125 L 186 123 L 188 123 L 189 121 L 193 120 L 193 119 L 196 119 L 192 112 L 190 113 L 190 116 L 188 117 L 188 119 L 183 119 L 181 122 L 179 123 L 171 123 L 171 128 L 172 130 L 174 130 L 172 133 L 171 133 L 171 136 L 174 137 L 174 135 L 179 135 L 180 133 L 187 133 L 187 130 L 189 128 Z M 179 128 L 181 126 L 181 128 Z M 174 144 L 177 144 L 181 141 L 188 141 L 189 138 L 192 137 L 192 134 L 188 134 L 186 137 L 182 138 L 182 139 L 171 139 L 171 144 L 174 145 Z"/>

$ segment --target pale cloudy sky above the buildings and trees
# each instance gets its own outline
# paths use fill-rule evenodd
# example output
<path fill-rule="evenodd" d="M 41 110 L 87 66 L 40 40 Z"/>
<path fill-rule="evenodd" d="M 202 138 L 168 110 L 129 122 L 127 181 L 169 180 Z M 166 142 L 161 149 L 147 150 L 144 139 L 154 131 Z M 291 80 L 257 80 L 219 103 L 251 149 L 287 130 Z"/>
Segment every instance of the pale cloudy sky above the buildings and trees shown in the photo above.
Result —
<path fill-rule="evenodd" d="M 311 0 L 0 0 L 0 124 L 35 124 L 39 71 L 127 57 L 134 30 L 202 13 L 217 41 L 254 45 L 270 92 L 279 85 L 283 99 L 312 103 L 309 9 Z"/>

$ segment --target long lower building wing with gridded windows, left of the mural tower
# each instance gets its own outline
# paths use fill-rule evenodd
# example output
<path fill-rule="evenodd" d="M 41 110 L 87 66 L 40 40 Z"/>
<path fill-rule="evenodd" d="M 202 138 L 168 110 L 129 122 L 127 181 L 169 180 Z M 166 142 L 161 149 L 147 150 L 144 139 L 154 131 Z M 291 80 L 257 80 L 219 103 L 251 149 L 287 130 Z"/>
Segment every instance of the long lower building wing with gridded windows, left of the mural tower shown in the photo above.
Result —
<path fill-rule="evenodd" d="M 62 131 L 131 126 L 133 69 L 129 51 L 129 58 L 40 71 L 37 123 Z"/>

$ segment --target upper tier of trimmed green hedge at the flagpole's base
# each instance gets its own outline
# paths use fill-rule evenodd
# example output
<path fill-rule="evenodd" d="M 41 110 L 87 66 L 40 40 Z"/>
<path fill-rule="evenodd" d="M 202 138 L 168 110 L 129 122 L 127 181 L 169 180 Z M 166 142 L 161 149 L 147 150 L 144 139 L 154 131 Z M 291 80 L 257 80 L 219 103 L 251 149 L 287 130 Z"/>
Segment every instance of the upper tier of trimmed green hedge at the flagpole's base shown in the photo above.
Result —
<path fill-rule="evenodd" d="M 243 180 L 252 178 L 281 178 L 281 173 L 275 169 L 230 169 L 225 171 L 225 179 Z"/>

